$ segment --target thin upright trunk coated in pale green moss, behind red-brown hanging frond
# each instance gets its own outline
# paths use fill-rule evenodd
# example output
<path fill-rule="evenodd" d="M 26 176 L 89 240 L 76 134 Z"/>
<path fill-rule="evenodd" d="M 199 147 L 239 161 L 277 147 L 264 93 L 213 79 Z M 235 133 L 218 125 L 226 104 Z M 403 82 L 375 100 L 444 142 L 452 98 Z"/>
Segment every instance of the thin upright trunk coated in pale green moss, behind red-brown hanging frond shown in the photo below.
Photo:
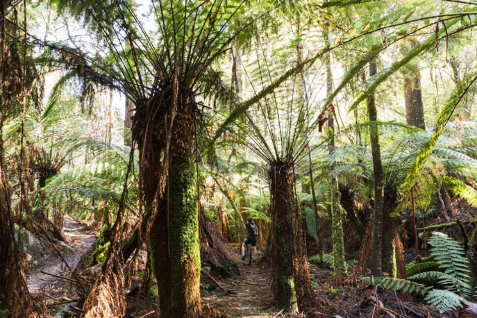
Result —
<path fill-rule="evenodd" d="M 324 35 L 325 45 L 328 45 L 328 34 Z M 325 54 L 326 63 L 326 95 L 333 92 L 333 74 L 331 73 L 331 55 Z M 328 154 L 334 151 L 334 116 L 331 109 L 328 109 L 328 134 L 331 139 L 328 142 Z M 336 163 L 329 165 L 329 186 L 331 192 L 331 230 L 333 240 L 333 268 L 335 274 L 347 274 L 346 262 L 344 258 L 343 221 L 341 219 L 341 208 L 339 206 L 338 178 L 331 171 L 336 169 Z"/>

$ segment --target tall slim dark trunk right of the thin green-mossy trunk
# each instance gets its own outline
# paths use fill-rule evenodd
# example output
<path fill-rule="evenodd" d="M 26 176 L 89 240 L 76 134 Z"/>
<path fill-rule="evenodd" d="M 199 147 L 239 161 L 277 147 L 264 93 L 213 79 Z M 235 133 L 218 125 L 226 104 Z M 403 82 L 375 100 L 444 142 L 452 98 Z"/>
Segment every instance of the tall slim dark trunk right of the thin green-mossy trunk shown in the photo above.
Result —
<path fill-rule="evenodd" d="M 377 73 L 376 69 L 376 60 L 372 60 L 369 63 L 370 77 Z M 376 110 L 374 93 L 368 96 L 367 106 L 369 121 L 377 121 L 378 112 Z M 369 136 L 371 140 L 374 174 L 374 221 L 373 233 L 371 236 L 371 275 L 381 276 L 383 260 L 384 173 L 383 164 L 381 162 L 381 146 L 379 144 L 378 127 L 376 125 L 371 125 L 369 127 Z"/>

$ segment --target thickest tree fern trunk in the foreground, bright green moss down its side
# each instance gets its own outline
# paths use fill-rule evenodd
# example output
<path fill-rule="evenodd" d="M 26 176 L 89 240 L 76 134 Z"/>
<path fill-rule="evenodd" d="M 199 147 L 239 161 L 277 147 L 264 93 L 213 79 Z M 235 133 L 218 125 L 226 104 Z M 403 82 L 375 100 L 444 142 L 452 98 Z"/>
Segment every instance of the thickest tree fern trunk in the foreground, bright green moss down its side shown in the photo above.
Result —
<path fill-rule="evenodd" d="M 172 89 L 171 89 L 172 90 Z M 194 163 L 194 120 L 196 105 L 193 96 L 178 88 L 177 100 L 172 93 L 159 96 L 165 102 L 157 107 L 177 103 L 171 131 L 164 122 L 172 116 L 151 117 L 147 109 L 138 107 L 133 117 L 133 138 L 138 143 L 141 160 L 142 186 L 145 204 L 158 204 L 155 194 L 165 181 L 161 204 L 151 228 L 149 248 L 152 269 L 157 279 L 160 317 L 200 317 L 200 251 L 197 183 Z M 160 111 L 160 109 L 159 109 Z M 159 113 L 158 111 L 158 113 Z M 149 122 L 149 123 L 148 123 Z M 146 127 L 150 132 L 145 138 Z M 167 179 L 163 179 L 160 153 L 164 140 L 170 136 Z M 144 156 L 144 157 L 143 157 Z M 164 156 L 164 158 L 162 158 Z"/>

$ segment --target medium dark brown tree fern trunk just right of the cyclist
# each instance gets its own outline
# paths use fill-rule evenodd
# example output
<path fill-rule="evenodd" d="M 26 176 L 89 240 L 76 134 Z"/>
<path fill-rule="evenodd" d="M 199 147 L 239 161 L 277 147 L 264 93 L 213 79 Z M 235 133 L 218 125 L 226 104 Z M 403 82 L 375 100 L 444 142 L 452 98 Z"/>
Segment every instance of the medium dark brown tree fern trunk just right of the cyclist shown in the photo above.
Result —
<path fill-rule="evenodd" d="M 272 212 L 272 273 L 277 308 L 298 313 L 294 275 L 294 243 L 292 213 L 295 211 L 292 190 L 292 168 L 284 162 L 270 167 Z"/>

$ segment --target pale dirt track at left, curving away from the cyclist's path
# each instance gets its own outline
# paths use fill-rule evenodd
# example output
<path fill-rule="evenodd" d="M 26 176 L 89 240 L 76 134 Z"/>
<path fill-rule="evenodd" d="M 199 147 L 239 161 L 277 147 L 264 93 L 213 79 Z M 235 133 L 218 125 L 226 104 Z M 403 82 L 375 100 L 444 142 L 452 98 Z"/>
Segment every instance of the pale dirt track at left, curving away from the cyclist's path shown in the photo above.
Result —
<path fill-rule="evenodd" d="M 81 255 L 94 243 L 96 237 L 92 231 L 88 230 L 87 225 L 69 216 L 65 217 L 63 230 L 69 239 L 69 242 L 66 243 L 71 246 L 72 250 L 66 253 L 62 252 L 62 255 L 74 270 Z M 28 289 L 33 295 L 43 295 L 47 303 L 60 297 L 73 296 L 70 291 L 70 281 L 44 274 L 41 271 L 61 277 L 71 277 L 72 273 L 56 251 L 49 252 L 47 258 L 41 260 L 41 264 L 30 269 L 30 276 L 27 280 Z"/>

